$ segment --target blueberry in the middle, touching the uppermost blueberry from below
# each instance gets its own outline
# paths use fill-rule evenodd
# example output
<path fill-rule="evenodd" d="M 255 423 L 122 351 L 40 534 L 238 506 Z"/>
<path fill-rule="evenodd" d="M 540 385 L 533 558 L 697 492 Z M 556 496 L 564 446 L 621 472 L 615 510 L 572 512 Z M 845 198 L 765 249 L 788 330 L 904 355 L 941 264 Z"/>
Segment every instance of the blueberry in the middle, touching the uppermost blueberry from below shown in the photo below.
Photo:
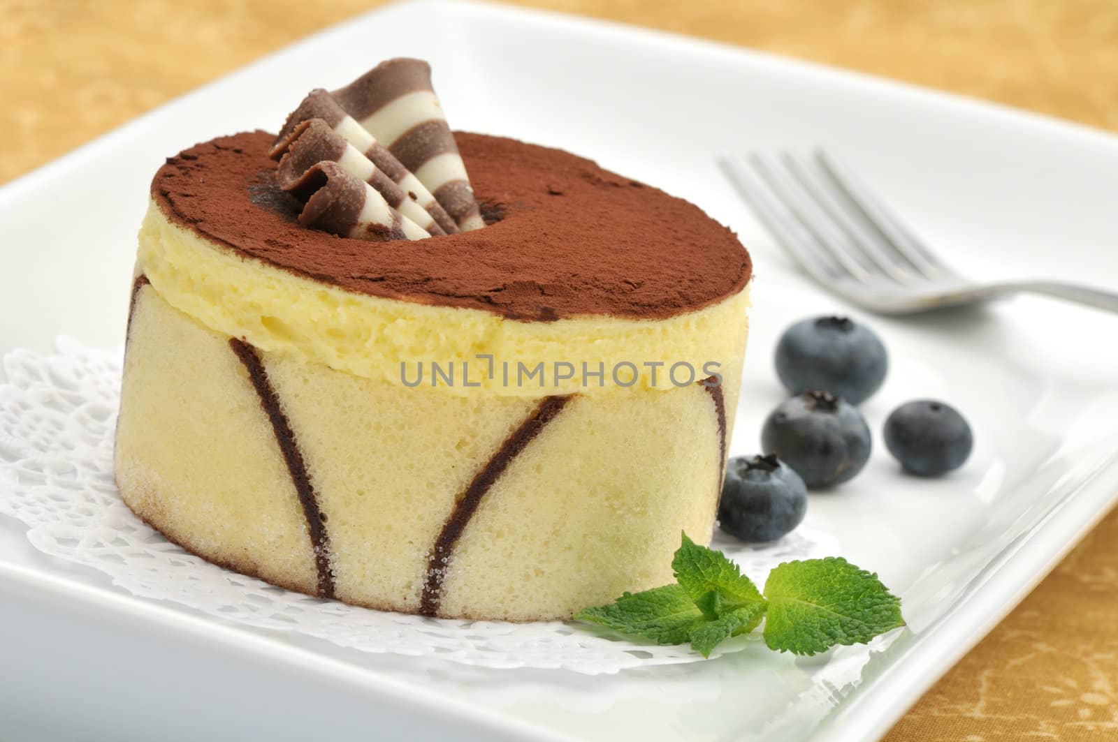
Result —
<path fill-rule="evenodd" d="M 786 400 L 761 428 L 761 447 L 779 456 L 812 488 L 852 479 L 870 458 L 871 446 L 862 413 L 825 391 Z"/>

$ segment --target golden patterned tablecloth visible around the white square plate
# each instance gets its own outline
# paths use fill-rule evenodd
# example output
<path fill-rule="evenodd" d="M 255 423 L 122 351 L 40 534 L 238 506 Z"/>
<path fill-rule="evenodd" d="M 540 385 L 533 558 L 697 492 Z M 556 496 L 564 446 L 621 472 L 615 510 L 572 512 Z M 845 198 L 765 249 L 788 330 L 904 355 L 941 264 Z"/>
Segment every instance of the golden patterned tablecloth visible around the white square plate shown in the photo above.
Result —
<path fill-rule="evenodd" d="M 0 182 L 368 0 L 0 0 Z M 522 0 L 1118 130 L 1118 0 Z M 219 132 L 215 132 L 219 133 Z M 1118 740 L 1118 512 L 890 742 Z"/>

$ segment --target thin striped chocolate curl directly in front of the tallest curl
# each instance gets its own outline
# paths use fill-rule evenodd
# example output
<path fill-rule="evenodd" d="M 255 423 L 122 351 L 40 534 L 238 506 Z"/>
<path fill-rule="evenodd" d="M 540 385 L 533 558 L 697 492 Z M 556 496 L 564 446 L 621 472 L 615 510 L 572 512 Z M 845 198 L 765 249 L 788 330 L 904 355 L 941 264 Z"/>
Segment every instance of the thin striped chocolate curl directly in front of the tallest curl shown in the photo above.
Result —
<path fill-rule="evenodd" d="M 442 232 L 438 234 L 454 235 L 459 231 L 454 219 L 435 200 L 430 191 L 419 182 L 419 179 L 405 168 L 391 152 L 381 146 L 372 134 L 345 113 L 338 105 L 338 102 L 322 88 L 311 91 L 299 104 L 299 107 L 287 116 L 280 136 L 276 137 L 275 144 L 272 145 L 272 151 L 268 153 L 273 160 L 280 160 L 284 155 L 301 133 L 300 125 L 312 118 L 321 118 L 325 122 L 334 133 L 352 144 L 356 150 L 377 165 L 377 169 L 396 183 L 409 199 L 427 211 L 442 229 Z"/>

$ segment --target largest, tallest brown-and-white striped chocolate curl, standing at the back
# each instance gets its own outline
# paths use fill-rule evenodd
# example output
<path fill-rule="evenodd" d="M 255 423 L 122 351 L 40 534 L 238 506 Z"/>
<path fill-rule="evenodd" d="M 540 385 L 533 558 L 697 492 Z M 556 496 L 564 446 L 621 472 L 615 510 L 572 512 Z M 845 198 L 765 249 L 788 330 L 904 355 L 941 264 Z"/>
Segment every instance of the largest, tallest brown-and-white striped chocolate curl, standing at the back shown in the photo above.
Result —
<path fill-rule="evenodd" d="M 485 226 L 426 61 L 382 61 L 331 95 L 416 174 L 459 229 Z"/>

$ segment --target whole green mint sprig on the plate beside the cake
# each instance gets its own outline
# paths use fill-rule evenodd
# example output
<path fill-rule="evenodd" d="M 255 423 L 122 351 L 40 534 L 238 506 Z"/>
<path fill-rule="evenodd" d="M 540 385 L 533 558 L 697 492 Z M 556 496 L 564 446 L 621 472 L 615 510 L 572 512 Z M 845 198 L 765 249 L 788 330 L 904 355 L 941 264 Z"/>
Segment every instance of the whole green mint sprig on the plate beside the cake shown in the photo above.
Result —
<path fill-rule="evenodd" d="M 837 556 L 780 564 L 762 596 L 722 552 L 684 533 L 672 570 L 675 584 L 626 592 L 575 618 L 657 644 L 690 643 L 703 657 L 724 639 L 752 631 L 766 613 L 765 644 L 797 655 L 865 644 L 904 626 L 900 599 L 878 575 Z"/>

